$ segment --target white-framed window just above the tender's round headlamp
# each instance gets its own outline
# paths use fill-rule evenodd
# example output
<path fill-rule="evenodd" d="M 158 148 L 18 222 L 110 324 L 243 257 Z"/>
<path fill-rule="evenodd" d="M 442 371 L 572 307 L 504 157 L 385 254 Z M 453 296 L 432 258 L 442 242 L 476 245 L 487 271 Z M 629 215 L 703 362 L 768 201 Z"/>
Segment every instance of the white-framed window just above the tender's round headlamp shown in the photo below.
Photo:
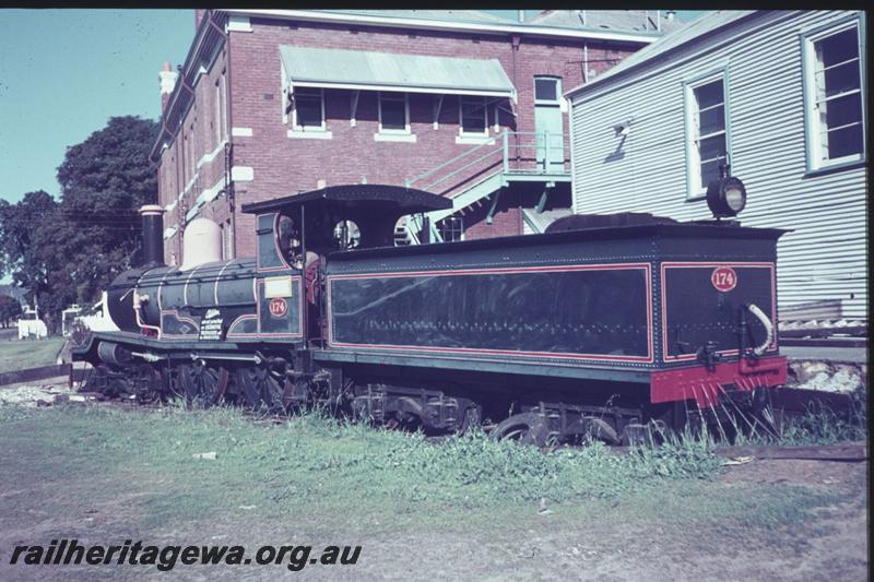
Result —
<path fill-rule="evenodd" d="M 688 200 L 707 193 L 707 185 L 719 178 L 729 163 L 730 128 L 725 71 L 685 83 L 686 176 Z"/>

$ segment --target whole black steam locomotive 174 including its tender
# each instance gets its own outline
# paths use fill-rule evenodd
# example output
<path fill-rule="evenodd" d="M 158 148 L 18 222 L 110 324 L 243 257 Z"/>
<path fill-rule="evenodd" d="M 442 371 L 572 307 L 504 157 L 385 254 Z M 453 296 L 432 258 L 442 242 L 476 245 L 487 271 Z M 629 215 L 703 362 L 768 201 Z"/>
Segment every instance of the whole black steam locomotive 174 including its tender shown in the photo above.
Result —
<path fill-rule="evenodd" d="M 255 258 L 215 260 L 217 227 L 193 221 L 181 266 L 164 264 L 163 211 L 145 206 L 144 262 L 107 292 L 119 331 L 91 334 L 74 359 L 141 401 L 323 403 L 432 431 L 488 421 L 539 444 L 760 418 L 787 376 L 775 331 L 784 230 L 720 219 L 746 194 L 736 178 L 717 182 L 716 221 L 570 216 L 542 235 L 408 247 L 392 246 L 398 219 L 450 200 L 329 187 L 245 205 Z"/>

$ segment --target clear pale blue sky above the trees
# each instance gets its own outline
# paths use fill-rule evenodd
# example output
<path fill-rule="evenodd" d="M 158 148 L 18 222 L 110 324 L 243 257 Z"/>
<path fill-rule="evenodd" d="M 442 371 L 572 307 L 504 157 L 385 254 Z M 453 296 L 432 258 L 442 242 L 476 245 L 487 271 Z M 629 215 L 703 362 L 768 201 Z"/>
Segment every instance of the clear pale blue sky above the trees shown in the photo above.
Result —
<path fill-rule="evenodd" d="M 114 116 L 157 120 L 158 71 L 185 59 L 194 11 L 0 9 L 0 198 L 40 189 L 59 198 L 67 147 Z"/>

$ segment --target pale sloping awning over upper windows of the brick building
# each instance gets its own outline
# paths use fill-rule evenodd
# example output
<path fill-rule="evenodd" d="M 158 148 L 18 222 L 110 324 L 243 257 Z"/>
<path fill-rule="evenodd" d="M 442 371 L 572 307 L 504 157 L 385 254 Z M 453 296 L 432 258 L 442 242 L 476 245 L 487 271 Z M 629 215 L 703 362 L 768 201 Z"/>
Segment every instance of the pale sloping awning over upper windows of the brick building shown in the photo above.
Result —
<path fill-rule="evenodd" d="M 497 59 L 458 59 L 363 50 L 280 47 L 291 87 L 442 93 L 512 98 Z"/>

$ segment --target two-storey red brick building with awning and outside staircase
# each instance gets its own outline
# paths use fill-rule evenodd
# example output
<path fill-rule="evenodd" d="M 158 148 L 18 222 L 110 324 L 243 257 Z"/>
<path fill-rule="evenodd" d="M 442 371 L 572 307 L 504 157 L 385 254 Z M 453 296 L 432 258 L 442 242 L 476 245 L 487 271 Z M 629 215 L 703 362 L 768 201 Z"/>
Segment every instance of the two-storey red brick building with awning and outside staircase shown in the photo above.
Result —
<path fill-rule="evenodd" d="M 184 64 L 161 72 L 152 150 L 165 256 L 185 225 L 253 252 L 243 204 L 326 185 L 452 197 L 430 239 L 541 231 L 570 209 L 564 88 L 680 25 L 654 11 L 198 10 Z M 415 242 L 422 223 L 401 225 Z M 408 235 L 409 233 L 409 235 Z"/>

